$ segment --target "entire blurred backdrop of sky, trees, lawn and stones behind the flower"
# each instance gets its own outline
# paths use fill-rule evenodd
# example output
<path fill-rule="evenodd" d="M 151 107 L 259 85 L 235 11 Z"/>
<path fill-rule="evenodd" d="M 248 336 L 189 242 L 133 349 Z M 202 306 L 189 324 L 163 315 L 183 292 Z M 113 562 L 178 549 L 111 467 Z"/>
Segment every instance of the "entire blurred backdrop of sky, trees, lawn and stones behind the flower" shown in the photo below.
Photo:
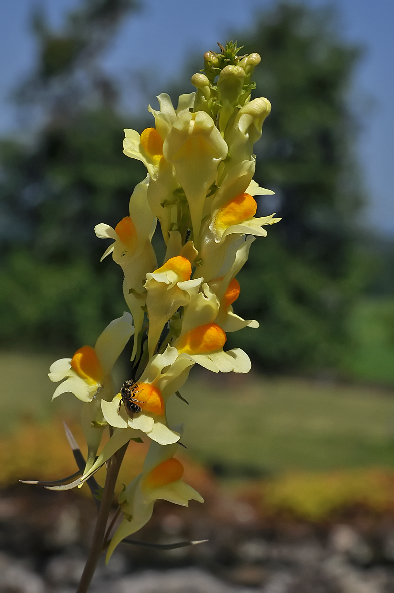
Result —
<path fill-rule="evenodd" d="M 195 369 L 189 406 L 170 403 L 206 504 L 158 504 L 136 534 L 209 543 L 120 546 L 94 587 L 394 591 L 394 4 L 14 0 L 0 10 L 0 591 L 77 585 L 88 492 L 17 486 L 75 471 L 60 419 L 82 444 L 78 402 L 51 404 L 47 372 L 125 308 L 120 269 L 99 263 L 94 234 L 126 215 L 145 176 L 122 154 L 123 128 L 152 125 L 155 95 L 192 92 L 202 54 L 229 39 L 262 56 L 255 96 L 272 113 L 255 178 L 275 196 L 259 197 L 258 212 L 283 217 L 240 273 L 236 311 L 260 328 L 228 344 L 253 370 Z M 144 457 L 134 445 L 124 482 Z"/>

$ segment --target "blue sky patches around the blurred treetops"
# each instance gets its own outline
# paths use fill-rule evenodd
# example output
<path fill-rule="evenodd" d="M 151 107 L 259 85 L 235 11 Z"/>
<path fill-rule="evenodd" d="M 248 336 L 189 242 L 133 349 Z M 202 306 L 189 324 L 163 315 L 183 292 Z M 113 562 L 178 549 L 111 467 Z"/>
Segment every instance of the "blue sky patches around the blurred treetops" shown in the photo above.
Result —
<path fill-rule="evenodd" d="M 182 69 L 188 52 L 214 49 L 234 30 L 253 25 L 256 11 L 273 0 L 226 0 L 198 3 L 190 0 L 142 0 L 138 14 L 123 23 L 104 65 L 126 83 L 125 109 L 136 109 L 139 93 L 132 87 L 132 72 L 153 68 L 153 95 L 166 90 L 164 83 Z M 312 6 L 325 0 L 306 0 Z M 53 24 L 79 4 L 78 0 L 43 0 Z M 363 110 L 363 131 L 358 154 L 369 205 L 364 224 L 394 237 L 394 1 L 334 0 L 341 17 L 340 33 L 366 47 L 355 79 L 355 105 Z M 0 133 L 17 129 L 17 119 L 8 101 L 12 88 L 34 63 L 34 42 L 28 16 L 37 0 L 2 2 L 0 9 Z M 225 8 L 224 8 L 225 6 Z M 209 7 L 209 8 L 206 8 Z M 370 101 L 372 99 L 372 101 Z"/>

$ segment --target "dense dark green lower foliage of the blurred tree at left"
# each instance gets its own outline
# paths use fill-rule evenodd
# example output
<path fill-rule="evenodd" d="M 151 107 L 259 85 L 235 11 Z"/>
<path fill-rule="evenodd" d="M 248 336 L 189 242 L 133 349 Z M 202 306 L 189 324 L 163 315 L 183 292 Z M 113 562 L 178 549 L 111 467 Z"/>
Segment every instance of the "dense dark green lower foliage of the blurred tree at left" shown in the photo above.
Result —
<path fill-rule="evenodd" d="M 120 151 L 123 127 L 113 112 L 87 111 L 66 128 L 46 129 L 31 150 L 8 146 L 4 342 L 94 343 L 122 314 L 122 274 L 111 261 L 99 263 L 107 244 L 94 227 L 128 214 L 128 197 L 144 176 Z"/>

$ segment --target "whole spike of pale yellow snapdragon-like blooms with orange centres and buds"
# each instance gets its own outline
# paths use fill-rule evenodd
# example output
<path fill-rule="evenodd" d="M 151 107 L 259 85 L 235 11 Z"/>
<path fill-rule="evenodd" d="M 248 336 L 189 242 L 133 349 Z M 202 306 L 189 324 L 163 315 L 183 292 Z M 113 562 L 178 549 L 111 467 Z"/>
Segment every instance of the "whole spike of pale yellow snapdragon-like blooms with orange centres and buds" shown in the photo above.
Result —
<path fill-rule="evenodd" d="M 183 467 L 173 457 L 182 428 L 166 415 L 169 397 L 179 392 L 197 364 L 213 372 L 247 373 L 243 350 L 225 350 L 226 333 L 258 327 L 234 313 L 236 279 L 255 237 L 266 235 L 274 215 L 256 217 L 254 196 L 272 194 L 253 181 L 253 144 L 262 134 L 271 104 L 251 100 L 256 53 L 237 56 L 233 43 L 220 54 L 204 55 L 204 74 L 195 74 L 196 93 L 169 95 L 151 111 L 155 125 L 125 130 L 123 152 L 142 161 L 147 177 L 115 228 L 101 223 L 97 237 L 112 243 L 104 257 L 123 271 L 123 295 L 130 313 L 112 321 L 96 346 L 82 346 L 71 359 L 50 367 L 58 382 L 53 397 L 71 392 L 84 402 L 82 425 L 88 442 L 83 483 L 130 439 L 147 435 L 150 449 L 142 474 L 119 499 L 123 519 L 109 544 L 115 546 L 151 517 L 162 498 L 188 505 L 201 496 L 182 482 Z M 166 256 L 157 262 L 152 235 L 157 221 Z M 133 336 L 134 376 L 116 393 L 112 367 Z M 110 439 L 99 453 L 103 429 Z"/>

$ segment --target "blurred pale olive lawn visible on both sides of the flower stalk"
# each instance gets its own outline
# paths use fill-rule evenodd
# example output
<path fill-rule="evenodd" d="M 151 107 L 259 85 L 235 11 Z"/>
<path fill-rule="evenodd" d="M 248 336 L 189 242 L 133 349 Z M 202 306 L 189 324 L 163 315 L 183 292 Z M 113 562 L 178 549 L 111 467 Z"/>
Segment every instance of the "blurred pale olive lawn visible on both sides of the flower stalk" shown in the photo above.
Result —
<path fill-rule="evenodd" d="M 77 415 L 70 394 L 50 403 L 55 386 L 46 374 L 54 358 L 0 356 L 2 433 L 26 417 Z M 394 397 L 376 388 L 193 371 L 182 395 L 190 405 L 171 397 L 170 423 L 185 422 L 189 453 L 224 477 L 393 466 Z"/>

